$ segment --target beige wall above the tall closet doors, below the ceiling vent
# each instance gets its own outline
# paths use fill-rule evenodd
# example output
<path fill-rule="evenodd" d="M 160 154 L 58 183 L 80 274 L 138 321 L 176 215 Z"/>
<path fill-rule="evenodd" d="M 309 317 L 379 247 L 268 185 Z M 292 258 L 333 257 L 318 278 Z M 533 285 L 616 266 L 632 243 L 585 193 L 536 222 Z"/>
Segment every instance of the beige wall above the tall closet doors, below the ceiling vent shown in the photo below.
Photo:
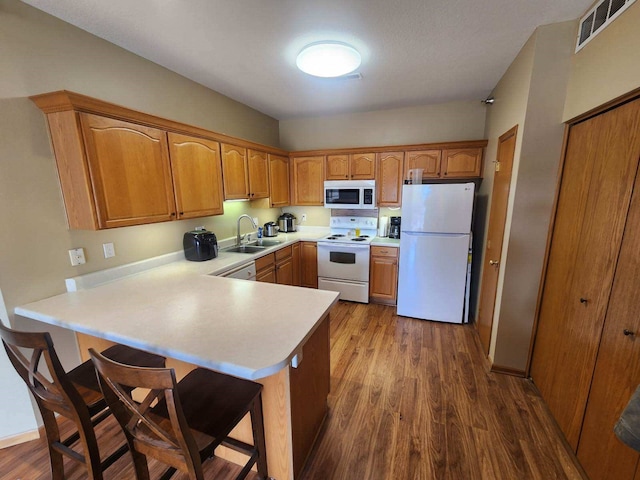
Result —
<path fill-rule="evenodd" d="M 638 52 L 640 2 L 631 5 L 571 59 L 563 120 L 639 88 Z"/>

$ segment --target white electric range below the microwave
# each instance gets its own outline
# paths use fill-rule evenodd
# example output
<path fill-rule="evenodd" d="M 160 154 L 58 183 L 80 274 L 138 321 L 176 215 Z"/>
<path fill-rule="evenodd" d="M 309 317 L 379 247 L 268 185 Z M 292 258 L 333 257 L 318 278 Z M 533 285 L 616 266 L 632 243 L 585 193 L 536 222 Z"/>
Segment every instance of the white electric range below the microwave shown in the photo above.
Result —
<path fill-rule="evenodd" d="M 329 227 L 331 233 L 318 240 L 318 288 L 369 303 L 369 250 L 378 217 L 332 216 Z"/>

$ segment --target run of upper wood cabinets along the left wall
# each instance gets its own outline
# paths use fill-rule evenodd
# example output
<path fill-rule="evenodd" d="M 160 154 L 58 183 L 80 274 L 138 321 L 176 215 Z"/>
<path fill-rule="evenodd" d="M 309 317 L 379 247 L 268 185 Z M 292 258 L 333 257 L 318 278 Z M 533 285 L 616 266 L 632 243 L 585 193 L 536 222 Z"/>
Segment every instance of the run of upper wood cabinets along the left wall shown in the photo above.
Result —
<path fill-rule="evenodd" d="M 264 198 L 268 155 L 287 155 L 74 92 L 30 99 L 47 118 L 72 229 L 220 214 L 223 168 L 230 198 Z"/>

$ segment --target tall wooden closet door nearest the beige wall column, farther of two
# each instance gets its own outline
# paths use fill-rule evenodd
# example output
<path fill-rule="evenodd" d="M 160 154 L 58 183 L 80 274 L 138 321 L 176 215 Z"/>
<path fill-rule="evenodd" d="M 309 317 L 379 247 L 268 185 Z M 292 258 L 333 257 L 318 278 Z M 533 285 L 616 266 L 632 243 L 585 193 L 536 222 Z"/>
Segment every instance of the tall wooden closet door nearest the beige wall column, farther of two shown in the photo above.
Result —
<path fill-rule="evenodd" d="M 571 127 L 531 376 L 578 446 L 640 152 L 632 102 Z"/>

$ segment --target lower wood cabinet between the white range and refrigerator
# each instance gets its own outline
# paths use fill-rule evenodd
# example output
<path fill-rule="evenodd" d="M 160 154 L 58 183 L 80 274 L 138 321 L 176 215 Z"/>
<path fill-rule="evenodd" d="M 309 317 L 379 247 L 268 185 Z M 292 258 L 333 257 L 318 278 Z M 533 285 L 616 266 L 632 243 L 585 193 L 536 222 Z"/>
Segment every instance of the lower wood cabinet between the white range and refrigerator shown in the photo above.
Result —
<path fill-rule="evenodd" d="M 369 300 L 395 305 L 398 298 L 398 248 L 371 246 Z"/>

